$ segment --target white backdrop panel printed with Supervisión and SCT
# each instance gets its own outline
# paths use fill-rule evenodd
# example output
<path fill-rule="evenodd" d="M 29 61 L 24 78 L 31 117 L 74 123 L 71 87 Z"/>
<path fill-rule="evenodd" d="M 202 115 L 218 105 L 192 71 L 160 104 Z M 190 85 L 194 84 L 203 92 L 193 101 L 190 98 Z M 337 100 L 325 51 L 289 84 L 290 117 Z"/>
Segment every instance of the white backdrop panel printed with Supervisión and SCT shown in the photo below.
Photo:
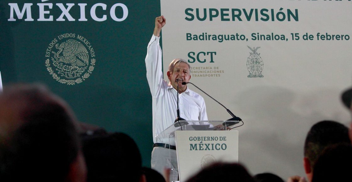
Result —
<path fill-rule="evenodd" d="M 305 176 L 303 145 L 309 128 L 320 120 L 345 124 L 350 121 L 340 93 L 351 85 L 352 40 L 345 40 L 352 36 L 351 7 L 352 2 L 347 0 L 161 0 L 161 13 L 167 22 L 162 30 L 164 75 L 172 59 L 180 57 L 193 62 L 194 57 L 194 63 L 190 63 L 190 81 L 244 120 L 244 126 L 238 128 L 239 161 L 253 175 L 269 171 L 283 178 Z M 193 11 L 186 14 L 187 8 Z M 200 10 L 200 18 L 206 9 L 204 21 L 197 19 L 196 8 Z M 211 8 L 219 12 L 212 21 Z M 260 19 L 266 18 L 260 14 L 265 8 L 269 21 Z M 229 21 L 221 20 L 221 9 L 225 9 L 223 19 Z M 235 14 L 241 12 L 242 21 L 232 20 L 232 9 L 237 9 Z M 252 9 L 252 17 L 247 20 L 245 11 L 249 14 Z M 288 21 L 288 9 L 298 15 L 298 21 L 292 17 Z M 278 20 L 277 12 L 285 13 L 283 21 Z M 186 20 L 191 18 L 189 14 L 194 16 L 193 20 Z M 217 38 L 238 33 L 246 39 L 187 40 L 187 33 L 192 38 L 202 33 Z M 253 40 L 252 33 L 284 35 L 285 40 Z M 300 39 L 293 40 L 291 33 L 298 33 Z M 306 33 L 312 34 L 313 40 L 303 40 Z M 317 33 L 345 36 L 344 40 L 321 40 L 321 37 L 318 40 Z M 247 46 L 260 47 L 258 55 Z M 199 52 L 216 52 L 216 55 L 213 53 L 211 60 L 211 53 L 201 53 L 199 59 L 204 62 L 201 63 L 196 59 Z M 256 66 L 263 68 L 263 77 L 248 77 L 247 63 L 251 62 L 247 59 L 251 55 L 262 60 Z M 195 87 L 189 87 L 201 94 Z M 230 118 L 224 108 L 202 96 L 209 120 Z"/>

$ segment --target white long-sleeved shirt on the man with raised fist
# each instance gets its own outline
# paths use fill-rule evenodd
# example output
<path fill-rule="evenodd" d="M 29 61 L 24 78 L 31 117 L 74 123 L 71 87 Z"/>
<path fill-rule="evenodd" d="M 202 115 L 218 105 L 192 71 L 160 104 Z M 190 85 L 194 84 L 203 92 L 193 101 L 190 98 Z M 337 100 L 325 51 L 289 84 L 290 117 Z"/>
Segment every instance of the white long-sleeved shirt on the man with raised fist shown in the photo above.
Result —
<path fill-rule="evenodd" d="M 153 142 L 175 145 L 173 140 L 156 138 L 159 133 L 174 124 L 177 117 L 177 90 L 163 79 L 159 38 L 152 36 L 145 57 L 147 80 L 153 100 Z M 181 118 L 193 121 L 208 120 L 202 96 L 187 87 L 178 97 Z"/>

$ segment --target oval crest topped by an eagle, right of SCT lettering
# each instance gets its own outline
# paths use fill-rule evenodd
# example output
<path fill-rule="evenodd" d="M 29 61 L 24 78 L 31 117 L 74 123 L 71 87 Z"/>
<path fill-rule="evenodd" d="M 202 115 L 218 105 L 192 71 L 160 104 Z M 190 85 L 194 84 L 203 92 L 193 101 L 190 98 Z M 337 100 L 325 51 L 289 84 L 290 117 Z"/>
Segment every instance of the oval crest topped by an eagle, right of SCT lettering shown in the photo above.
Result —
<path fill-rule="evenodd" d="M 260 57 L 260 53 L 258 54 L 257 52 L 260 47 L 254 47 L 253 49 L 248 45 L 247 47 L 252 51 L 249 53 L 250 55 L 247 58 L 247 70 L 249 71 L 249 75 L 247 77 L 264 77 L 262 75 L 264 67 L 263 60 Z"/>

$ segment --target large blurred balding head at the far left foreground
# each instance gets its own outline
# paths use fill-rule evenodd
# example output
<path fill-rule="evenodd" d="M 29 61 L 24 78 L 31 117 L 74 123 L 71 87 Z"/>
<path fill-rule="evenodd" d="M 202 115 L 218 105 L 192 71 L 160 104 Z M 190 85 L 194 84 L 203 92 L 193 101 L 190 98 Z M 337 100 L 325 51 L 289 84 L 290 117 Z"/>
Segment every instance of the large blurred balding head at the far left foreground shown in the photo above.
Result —
<path fill-rule="evenodd" d="M 0 94 L 0 181 L 85 181 L 76 119 L 40 85 Z"/>

